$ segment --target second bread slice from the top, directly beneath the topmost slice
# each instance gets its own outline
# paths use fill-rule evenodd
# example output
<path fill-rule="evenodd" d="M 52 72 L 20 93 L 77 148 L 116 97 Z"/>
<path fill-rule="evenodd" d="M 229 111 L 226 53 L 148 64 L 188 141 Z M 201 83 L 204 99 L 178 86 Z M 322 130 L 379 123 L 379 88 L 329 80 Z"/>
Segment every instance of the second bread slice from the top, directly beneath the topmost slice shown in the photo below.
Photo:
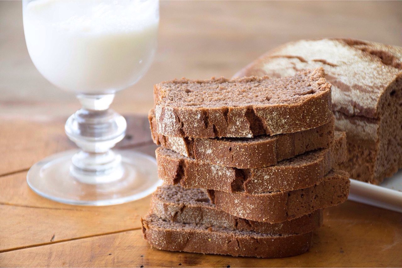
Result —
<path fill-rule="evenodd" d="M 158 134 L 154 109 L 148 115 L 155 144 L 209 163 L 240 169 L 267 167 L 310 150 L 327 148 L 334 137 L 334 117 L 323 126 L 295 133 L 254 138 L 186 138 Z"/>

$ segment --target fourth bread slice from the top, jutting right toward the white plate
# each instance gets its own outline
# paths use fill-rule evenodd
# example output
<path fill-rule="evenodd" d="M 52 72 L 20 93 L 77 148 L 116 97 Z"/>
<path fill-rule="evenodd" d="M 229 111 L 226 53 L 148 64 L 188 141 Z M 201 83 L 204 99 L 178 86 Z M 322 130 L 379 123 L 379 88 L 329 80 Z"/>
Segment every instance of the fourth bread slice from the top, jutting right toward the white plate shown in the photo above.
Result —
<path fill-rule="evenodd" d="M 218 209 L 234 216 L 268 223 L 280 223 L 315 210 L 343 203 L 349 196 L 349 174 L 332 170 L 316 185 L 289 192 L 250 195 L 209 190 Z"/>

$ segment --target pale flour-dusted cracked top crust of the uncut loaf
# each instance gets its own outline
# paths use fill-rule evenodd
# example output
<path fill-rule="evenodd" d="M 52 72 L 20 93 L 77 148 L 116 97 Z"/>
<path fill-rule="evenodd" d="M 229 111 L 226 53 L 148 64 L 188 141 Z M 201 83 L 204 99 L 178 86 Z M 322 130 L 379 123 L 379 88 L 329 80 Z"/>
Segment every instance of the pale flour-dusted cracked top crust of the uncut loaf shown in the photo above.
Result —
<path fill-rule="evenodd" d="M 234 77 L 291 76 L 319 66 L 333 85 L 334 111 L 377 118 L 381 96 L 402 78 L 402 47 L 342 38 L 293 41 L 267 52 Z"/>

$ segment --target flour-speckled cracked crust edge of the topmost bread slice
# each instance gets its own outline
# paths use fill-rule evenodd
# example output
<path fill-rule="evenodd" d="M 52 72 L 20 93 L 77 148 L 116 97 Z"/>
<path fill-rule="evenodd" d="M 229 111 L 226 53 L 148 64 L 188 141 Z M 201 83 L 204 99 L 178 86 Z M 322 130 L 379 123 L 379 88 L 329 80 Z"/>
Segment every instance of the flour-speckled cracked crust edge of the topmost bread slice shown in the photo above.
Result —
<path fill-rule="evenodd" d="M 297 103 L 236 105 L 222 107 L 179 107 L 166 105 L 163 99 L 164 84 L 154 87 L 155 117 L 157 131 L 164 136 L 214 138 L 254 137 L 309 130 L 328 123 L 332 117 L 331 85 L 326 83 L 323 68 L 301 72 L 311 85 L 320 89 L 310 93 Z M 261 78 L 250 78 L 261 79 Z M 289 80 L 289 79 L 288 79 Z M 228 82 L 228 80 L 224 80 Z M 183 83 L 181 80 L 166 83 Z M 199 80 L 185 80 L 185 83 L 199 83 Z M 208 80 L 201 82 L 216 82 Z M 242 80 L 229 82 L 241 83 Z M 307 82 L 306 82 L 307 83 Z M 309 85 L 310 85 L 309 84 Z"/>

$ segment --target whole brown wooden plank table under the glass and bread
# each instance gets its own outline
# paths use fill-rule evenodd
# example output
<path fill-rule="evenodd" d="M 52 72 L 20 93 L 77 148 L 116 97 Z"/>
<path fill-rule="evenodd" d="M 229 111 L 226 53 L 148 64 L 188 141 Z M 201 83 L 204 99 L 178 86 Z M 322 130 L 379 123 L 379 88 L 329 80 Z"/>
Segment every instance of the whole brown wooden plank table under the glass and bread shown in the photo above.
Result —
<path fill-rule="evenodd" d="M 117 206 L 70 206 L 29 189 L 27 169 L 34 162 L 74 147 L 64 120 L 0 123 L 0 267 L 402 265 L 402 214 L 351 201 L 325 210 L 324 226 L 301 256 L 263 260 L 151 249 L 139 221 L 150 197 Z M 154 155 L 146 117 L 127 121 L 127 136 L 117 146 Z"/>

